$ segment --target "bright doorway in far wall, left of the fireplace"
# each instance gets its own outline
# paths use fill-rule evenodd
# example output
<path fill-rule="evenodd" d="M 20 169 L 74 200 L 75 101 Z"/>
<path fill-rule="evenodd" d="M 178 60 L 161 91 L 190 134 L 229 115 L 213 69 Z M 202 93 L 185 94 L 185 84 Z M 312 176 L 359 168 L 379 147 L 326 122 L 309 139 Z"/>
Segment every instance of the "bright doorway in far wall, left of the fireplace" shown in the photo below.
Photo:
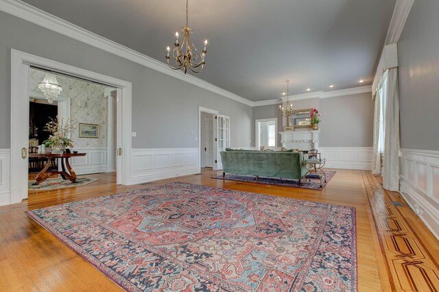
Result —
<path fill-rule="evenodd" d="M 256 149 L 277 147 L 277 118 L 257 119 L 254 125 Z"/>

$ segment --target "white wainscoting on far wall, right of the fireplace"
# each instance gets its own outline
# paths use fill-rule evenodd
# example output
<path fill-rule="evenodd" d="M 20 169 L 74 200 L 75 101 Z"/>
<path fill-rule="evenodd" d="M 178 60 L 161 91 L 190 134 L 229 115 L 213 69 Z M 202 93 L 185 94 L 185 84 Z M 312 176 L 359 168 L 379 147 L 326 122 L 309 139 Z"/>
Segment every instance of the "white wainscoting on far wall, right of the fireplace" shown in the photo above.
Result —
<path fill-rule="evenodd" d="M 372 147 L 319 147 L 324 167 L 333 169 L 372 169 Z"/>

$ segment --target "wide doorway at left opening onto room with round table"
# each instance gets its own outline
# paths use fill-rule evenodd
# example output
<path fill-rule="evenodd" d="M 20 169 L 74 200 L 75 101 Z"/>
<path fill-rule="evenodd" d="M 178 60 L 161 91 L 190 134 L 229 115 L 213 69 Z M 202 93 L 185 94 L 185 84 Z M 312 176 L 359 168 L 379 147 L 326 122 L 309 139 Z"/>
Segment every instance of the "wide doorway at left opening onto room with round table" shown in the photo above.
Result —
<path fill-rule="evenodd" d="M 60 95 L 51 102 L 40 89 L 40 84 L 49 80 L 47 76 L 62 88 Z M 117 98 L 116 95 L 117 88 L 34 66 L 29 68 L 29 192 L 71 185 L 69 180 L 65 180 L 65 175 L 58 175 L 61 171 L 71 172 L 60 158 L 35 157 L 51 154 L 53 137 L 61 132 L 69 139 L 64 152 L 84 154 L 68 158 L 71 169 L 78 175 L 75 186 L 93 182 L 90 176 L 93 173 L 115 171 L 117 158 L 113 142 L 117 137 L 117 104 L 113 99 Z M 47 129 L 47 125 L 53 122 L 60 125 L 56 135 L 53 129 Z M 42 175 L 47 179 L 39 181 Z M 112 178 L 115 176 L 112 175 Z"/>

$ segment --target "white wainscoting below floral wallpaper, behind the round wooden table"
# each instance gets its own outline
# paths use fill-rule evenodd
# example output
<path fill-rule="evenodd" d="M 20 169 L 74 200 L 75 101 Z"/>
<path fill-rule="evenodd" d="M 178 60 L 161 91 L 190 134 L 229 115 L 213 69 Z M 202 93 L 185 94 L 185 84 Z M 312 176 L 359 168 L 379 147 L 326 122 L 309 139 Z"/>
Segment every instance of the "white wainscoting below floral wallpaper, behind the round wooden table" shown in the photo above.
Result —
<path fill-rule="evenodd" d="M 78 156 L 69 160 L 71 167 L 76 174 L 89 174 L 108 171 L 107 149 L 106 148 L 73 148 L 79 153 L 86 153 L 86 156 Z"/>

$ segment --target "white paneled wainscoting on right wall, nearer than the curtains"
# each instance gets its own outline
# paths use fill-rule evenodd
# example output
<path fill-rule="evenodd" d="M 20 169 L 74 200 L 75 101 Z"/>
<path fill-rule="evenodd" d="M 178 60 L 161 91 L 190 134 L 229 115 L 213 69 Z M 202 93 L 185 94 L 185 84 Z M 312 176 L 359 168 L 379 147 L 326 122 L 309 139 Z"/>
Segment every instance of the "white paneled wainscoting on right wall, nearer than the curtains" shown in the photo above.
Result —
<path fill-rule="evenodd" d="M 399 189 L 439 240 L 439 151 L 401 149 Z"/>

